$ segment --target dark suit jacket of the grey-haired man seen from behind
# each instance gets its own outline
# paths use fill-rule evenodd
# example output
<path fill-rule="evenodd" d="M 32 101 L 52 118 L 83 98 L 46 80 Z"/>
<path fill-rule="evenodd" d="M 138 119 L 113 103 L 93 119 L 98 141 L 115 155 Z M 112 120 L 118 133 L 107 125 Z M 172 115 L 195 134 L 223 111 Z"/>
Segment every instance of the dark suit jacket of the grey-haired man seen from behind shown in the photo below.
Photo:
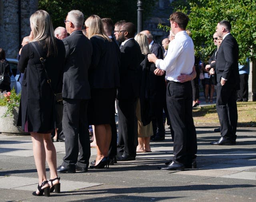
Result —
<path fill-rule="evenodd" d="M 92 43 L 82 31 L 64 38 L 66 60 L 62 96 L 70 99 L 90 99 L 88 69 L 92 59 Z"/>

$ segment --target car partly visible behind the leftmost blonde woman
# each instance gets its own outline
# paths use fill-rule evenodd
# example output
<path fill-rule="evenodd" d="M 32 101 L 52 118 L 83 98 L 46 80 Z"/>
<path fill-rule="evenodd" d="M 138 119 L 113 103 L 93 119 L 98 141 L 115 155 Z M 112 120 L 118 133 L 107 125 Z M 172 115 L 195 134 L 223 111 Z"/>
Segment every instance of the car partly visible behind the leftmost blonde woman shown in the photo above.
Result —
<path fill-rule="evenodd" d="M 20 86 L 20 72 L 18 71 L 17 74 L 17 66 L 18 66 L 18 60 L 17 59 L 10 59 L 6 58 L 6 60 L 10 64 L 10 68 L 12 70 L 12 76 L 11 76 L 11 89 L 14 87 L 16 93 L 19 93 L 21 90 Z"/>

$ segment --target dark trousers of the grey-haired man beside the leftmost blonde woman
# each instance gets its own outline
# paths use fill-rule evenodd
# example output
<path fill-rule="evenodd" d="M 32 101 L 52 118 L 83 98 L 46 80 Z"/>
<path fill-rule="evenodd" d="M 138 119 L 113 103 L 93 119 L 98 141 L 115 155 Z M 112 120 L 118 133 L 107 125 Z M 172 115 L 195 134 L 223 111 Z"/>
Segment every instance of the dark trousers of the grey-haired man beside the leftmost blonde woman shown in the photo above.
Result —
<path fill-rule="evenodd" d="M 88 131 L 88 100 L 63 98 L 62 129 L 65 135 L 66 156 L 62 166 L 77 164 L 86 168 L 91 155 Z"/>

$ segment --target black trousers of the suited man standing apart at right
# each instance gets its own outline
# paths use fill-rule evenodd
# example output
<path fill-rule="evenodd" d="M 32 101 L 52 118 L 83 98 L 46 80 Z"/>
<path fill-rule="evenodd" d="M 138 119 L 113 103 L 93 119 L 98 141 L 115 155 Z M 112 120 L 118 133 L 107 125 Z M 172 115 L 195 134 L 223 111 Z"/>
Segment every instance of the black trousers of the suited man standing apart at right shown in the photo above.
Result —
<path fill-rule="evenodd" d="M 220 120 L 220 135 L 226 139 L 236 140 L 238 115 L 234 85 L 217 84 L 216 110 Z"/>

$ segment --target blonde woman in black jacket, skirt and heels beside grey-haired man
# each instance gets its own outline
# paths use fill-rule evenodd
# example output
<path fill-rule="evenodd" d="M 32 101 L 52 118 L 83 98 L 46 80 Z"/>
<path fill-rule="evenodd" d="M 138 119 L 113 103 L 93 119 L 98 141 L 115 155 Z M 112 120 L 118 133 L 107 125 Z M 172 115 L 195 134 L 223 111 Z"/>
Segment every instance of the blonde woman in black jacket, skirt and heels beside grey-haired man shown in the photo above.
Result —
<path fill-rule="evenodd" d="M 116 88 L 120 84 L 120 50 L 106 35 L 99 16 L 88 17 L 84 25 L 93 47 L 92 64 L 89 69 L 91 99 L 88 105 L 88 121 L 95 127 L 97 157 L 90 168 L 102 169 L 107 167 L 109 162 L 110 123 L 114 116 Z"/>

